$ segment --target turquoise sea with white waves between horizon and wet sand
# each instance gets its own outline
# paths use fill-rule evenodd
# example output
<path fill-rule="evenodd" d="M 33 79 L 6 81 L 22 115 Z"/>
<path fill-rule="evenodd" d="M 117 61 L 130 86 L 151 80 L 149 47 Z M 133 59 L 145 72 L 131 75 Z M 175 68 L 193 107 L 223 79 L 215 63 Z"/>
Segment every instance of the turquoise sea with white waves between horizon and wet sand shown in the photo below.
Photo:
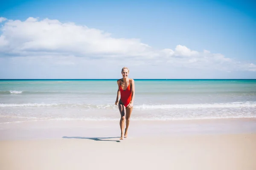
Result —
<path fill-rule="evenodd" d="M 132 120 L 256 118 L 256 79 L 135 79 Z M 0 123 L 119 120 L 116 79 L 0 80 Z"/>

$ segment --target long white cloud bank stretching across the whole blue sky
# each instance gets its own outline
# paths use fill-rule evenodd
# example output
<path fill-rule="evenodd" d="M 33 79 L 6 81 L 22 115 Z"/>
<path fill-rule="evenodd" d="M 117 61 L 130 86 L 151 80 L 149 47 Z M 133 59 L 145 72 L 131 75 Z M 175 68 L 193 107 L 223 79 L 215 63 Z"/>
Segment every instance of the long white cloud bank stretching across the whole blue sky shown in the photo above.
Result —
<path fill-rule="evenodd" d="M 6 18 L 0 17 L 0 21 Z M 139 39 L 113 38 L 111 34 L 75 23 L 29 17 L 25 21 L 7 20 L 0 35 L 0 57 L 19 57 L 14 61 L 49 65 L 76 66 L 97 59 L 102 65 L 129 62 L 131 65 L 197 68 L 219 71 L 256 71 L 253 63 L 239 62 L 204 50 L 194 51 L 184 45 L 175 50 L 157 50 Z M 84 58 L 84 59 L 81 59 Z M 131 60 L 132 59 L 132 60 Z M 45 62 L 44 62 L 45 61 Z M 117 62 L 118 61 L 118 62 Z"/>

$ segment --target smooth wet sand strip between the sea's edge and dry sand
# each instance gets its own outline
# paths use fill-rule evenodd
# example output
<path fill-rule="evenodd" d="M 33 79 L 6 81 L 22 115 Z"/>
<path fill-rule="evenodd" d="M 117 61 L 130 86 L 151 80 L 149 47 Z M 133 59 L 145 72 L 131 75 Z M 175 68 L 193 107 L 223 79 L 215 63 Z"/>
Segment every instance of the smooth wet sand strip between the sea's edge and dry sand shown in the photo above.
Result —
<path fill-rule="evenodd" d="M 0 141 L 19 139 L 60 139 L 63 136 L 119 136 L 119 121 L 53 120 L 0 124 Z M 129 126 L 132 137 L 198 134 L 256 133 L 256 119 L 200 119 L 136 121 Z"/>

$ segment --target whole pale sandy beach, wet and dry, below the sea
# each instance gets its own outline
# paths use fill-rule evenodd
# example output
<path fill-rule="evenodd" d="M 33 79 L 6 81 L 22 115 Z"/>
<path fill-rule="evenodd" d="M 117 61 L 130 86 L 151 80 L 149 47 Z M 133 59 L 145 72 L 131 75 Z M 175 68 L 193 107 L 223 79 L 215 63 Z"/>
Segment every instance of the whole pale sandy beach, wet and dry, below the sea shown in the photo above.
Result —
<path fill-rule="evenodd" d="M 256 170 L 256 121 L 0 125 L 1 170 Z M 32 128 L 33 127 L 33 128 Z"/>

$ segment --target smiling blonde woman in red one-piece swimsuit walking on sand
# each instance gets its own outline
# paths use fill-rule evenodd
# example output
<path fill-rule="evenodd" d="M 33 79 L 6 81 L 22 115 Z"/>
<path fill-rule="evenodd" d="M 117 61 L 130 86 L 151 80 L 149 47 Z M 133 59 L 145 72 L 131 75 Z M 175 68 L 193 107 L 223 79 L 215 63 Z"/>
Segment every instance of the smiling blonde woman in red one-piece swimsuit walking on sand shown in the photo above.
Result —
<path fill-rule="evenodd" d="M 120 128 L 121 128 L 121 137 L 127 138 L 128 127 L 130 123 L 131 111 L 133 109 L 135 87 L 134 79 L 129 79 L 129 69 L 127 67 L 122 68 L 122 79 L 117 80 L 118 90 L 116 96 L 116 103 L 118 105 L 119 112 L 121 114 L 120 119 Z M 120 101 L 118 101 L 119 96 L 121 95 Z M 125 127 L 126 120 L 126 127 Z M 125 130 L 125 132 L 124 132 Z"/>

